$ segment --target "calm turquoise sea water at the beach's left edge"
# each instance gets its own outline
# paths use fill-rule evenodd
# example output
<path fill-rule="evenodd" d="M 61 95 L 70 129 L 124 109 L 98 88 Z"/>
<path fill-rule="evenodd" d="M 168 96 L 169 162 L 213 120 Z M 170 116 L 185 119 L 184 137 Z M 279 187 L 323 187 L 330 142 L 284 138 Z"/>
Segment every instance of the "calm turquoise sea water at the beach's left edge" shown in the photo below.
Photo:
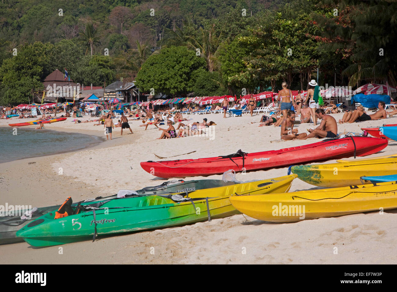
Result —
<path fill-rule="evenodd" d="M 79 133 L 0 127 L 0 163 L 77 150 L 100 141 L 100 137 Z"/>

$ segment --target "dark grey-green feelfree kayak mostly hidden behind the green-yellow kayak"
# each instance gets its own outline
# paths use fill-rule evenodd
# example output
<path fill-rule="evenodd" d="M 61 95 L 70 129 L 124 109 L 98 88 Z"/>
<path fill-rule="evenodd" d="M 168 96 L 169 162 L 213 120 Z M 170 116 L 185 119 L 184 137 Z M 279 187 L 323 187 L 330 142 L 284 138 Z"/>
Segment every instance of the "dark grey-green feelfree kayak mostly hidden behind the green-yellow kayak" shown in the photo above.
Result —
<path fill-rule="evenodd" d="M 190 193 L 196 190 L 203 190 L 208 188 L 218 188 L 222 186 L 229 186 L 236 184 L 235 182 L 225 182 L 223 180 L 175 180 L 164 182 L 158 186 L 145 187 L 136 192 L 139 196 L 147 195 L 158 195 L 158 194 L 168 194 L 168 193 Z M 127 197 L 137 197 L 138 195 L 126 195 Z M 105 199 L 117 199 L 117 194 L 109 197 L 96 197 L 90 201 L 102 201 Z M 77 203 L 72 206 L 75 207 Z M 18 238 L 15 233 L 21 229 L 23 226 L 29 224 L 31 220 L 35 220 L 42 215 L 45 215 L 51 211 L 57 210 L 60 205 L 41 207 L 35 210 L 31 217 L 27 219 L 21 219 L 21 214 L 16 214 L 15 212 L 8 212 L 8 216 L 0 217 L 0 244 L 14 243 L 23 241 L 22 238 Z M 35 208 L 36 209 L 36 208 Z M 19 212 L 20 213 L 20 212 Z M 24 213 L 24 212 L 22 212 Z M 19 216 L 17 216 L 19 215 Z"/>

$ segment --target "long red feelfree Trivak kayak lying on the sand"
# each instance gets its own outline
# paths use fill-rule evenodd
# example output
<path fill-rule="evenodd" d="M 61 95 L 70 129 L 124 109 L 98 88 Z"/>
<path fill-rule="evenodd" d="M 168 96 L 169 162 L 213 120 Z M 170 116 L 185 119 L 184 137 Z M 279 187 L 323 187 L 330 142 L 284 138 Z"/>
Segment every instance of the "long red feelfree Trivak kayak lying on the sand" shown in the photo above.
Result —
<path fill-rule="evenodd" d="M 237 151 L 233 155 L 183 159 L 173 161 L 141 162 L 144 170 L 160 178 L 185 178 L 223 174 L 229 169 L 235 172 L 260 170 L 289 165 L 371 155 L 387 146 L 387 139 L 372 137 L 345 137 L 326 139 L 303 146 L 256 153 Z"/>

